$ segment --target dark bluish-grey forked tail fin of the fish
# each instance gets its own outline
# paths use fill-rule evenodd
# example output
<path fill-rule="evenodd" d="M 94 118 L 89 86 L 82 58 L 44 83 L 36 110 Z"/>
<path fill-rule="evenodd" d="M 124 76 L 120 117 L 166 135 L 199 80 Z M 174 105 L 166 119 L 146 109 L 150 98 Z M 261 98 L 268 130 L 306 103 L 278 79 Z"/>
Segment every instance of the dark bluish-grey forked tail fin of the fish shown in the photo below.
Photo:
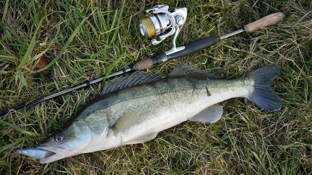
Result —
<path fill-rule="evenodd" d="M 280 110 L 282 101 L 270 87 L 273 80 L 280 75 L 280 71 L 278 66 L 272 65 L 246 73 L 244 77 L 254 81 L 254 88 L 248 100 L 267 111 Z"/>

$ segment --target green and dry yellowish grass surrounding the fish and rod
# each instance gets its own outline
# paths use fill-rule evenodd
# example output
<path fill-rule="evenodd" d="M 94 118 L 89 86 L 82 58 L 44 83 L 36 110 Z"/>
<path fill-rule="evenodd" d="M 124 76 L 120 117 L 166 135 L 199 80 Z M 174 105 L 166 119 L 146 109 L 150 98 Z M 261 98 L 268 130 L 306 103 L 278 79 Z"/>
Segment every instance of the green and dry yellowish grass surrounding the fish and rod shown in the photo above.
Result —
<path fill-rule="evenodd" d="M 104 82 L 0 117 L 0 174 L 312 174 L 312 3 L 305 0 L 182 1 L 188 18 L 178 45 L 240 29 L 273 12 L 287 19 L 203 52 L 154 66 L 189 64 L 234 78 L 276 64 L 280 111 L 244 98 L 224 101 L 220 121 L 187 121 L 144 144 L 80 154 L 55 163 L 16 155 L 65 125 L 99 96 Z M 138 29 L 144 8 L 178 1 L 0 1 L 0 110 L 99 78 L 170 48 Z M 38 73 L 49 59 L 50 74 Z"/>

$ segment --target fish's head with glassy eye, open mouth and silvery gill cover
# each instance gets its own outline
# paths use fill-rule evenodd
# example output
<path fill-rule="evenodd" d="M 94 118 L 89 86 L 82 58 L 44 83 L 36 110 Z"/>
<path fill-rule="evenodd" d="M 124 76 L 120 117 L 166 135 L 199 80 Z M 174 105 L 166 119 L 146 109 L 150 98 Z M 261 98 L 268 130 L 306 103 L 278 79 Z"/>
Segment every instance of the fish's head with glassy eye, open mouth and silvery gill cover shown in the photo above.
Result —
<path fill-rule="evenodd" d="M 92 131 L 84 120 L 75 120 L 63 130 L 55 132 L 37 145 L 55 154 L 40 158 L 40 163 L 50 163 L 62 158 L 78 155 L 86 149 L 92 139 Z"/>

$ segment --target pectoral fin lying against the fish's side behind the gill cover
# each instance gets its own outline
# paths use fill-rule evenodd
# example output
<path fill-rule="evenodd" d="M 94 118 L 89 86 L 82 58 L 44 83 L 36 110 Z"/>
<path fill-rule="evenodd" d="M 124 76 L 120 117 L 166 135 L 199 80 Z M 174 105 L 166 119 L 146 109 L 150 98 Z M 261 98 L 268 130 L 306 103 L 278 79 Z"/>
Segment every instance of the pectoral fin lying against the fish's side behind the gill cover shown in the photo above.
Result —
<path fill-rule="evenodd" d="M 138 107 L 128 113 L 126 113 L 124 116 L 122 116 L 120 119 L 118 119 L 114 125 L 112 125 L 112 130 L 114 131 L 114 134 L 118 134 L 119 132 L 125 130 L 128 128 L 134 121 L 138 120 L 140 114 L 142 112 L 142 108 Z"/>

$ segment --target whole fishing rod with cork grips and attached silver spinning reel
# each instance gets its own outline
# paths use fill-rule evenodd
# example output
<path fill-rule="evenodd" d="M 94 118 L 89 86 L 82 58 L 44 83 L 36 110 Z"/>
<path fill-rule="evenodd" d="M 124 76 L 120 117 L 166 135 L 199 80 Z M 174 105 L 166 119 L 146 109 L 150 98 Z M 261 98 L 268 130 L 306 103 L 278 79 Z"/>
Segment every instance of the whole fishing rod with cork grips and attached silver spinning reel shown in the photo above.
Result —
<path fill-rule="evenodd" d="M 168 5 L 158 5 L 153 7 L 152 9 L 146 10 L 145 12 L 149 13 L 151 12 L 150 15 L 148 15 L 145 18 L 142 18 L 139 20 L 139 27 L 141 34 L 144 35 L 146 38 L 152 37 L 152 36 L 158 36 L 158 39 L 153 39 L 151 40 L 152 45 L 157 45 L 160 42 L 162 42 L 164 39 L 167 37 L 174 35 L 171 43 L 171 49 L 158 54 L 152 58 L 146 58 L 143 59 L 137 63 L 134 63 L 132 66 L 129 68 L 125 68 L 121 71 L 118 71 L 116 73 L 112 73 L 110 75 L 97 78 L 95 80 L 92 80 L 90 82 L 86 82 L 83 84 L 80 84 L 75 87 L 68 88 L 66 90 L 63 90 L 61 92 L 56 92 L 54 94 L 51 94 L 46 97 L 41 97 L 36 100 L 32 100 L 26 104 L 22 104 L 19 106 L 15 106 L 11 109 L 7 109 L 5 111 L 0 112 L 0 116 L 4 116 L 10 111 L 17 111 L 21 110 L 23 108 L 32 106 L 38 102 L 43 102 L 47 99 L 57 97 L 60 95 L 63 95 L 65 93 L 74 91 L 76 89 L 80 89 L 82 87 L 86 87 L 90 84 L 94 84 L 97 82 L 100 82 L 104 80 L 105 78 L 112 78 L 117 75 L 130 72 L 133 70 L 143 70 L 143 69 L 148 69 L 152 67 L 153 65 L 156 64 L 161 64 L 164 63 L 168 60 L 172 59 L 178 59 L 184 56 L 188 56 L 190 54 L 199 52 L 201 50 L 207 49 L 213 45 L 215 45 L 218 41 L 223 40 L 227 37 L 239 34 L 241 32 L 251 32 L 260 29 L 261 27 L 267 27 L 271 26 L 273 24 L 276 24 L 286 17 L 285 12 L 277 12 L 270 14 L 268 16 L 265 16 L 257 21 L 254 21 L 250 24 L 247 24 L 244 26 L 242 29 L 234 31 L 232 33 L 222 35 L 222 36 L 210 36 L 207 38 L 203 38 L 200 40 L 196 40 L 193 42 L 190 42 L 186 45 L 176 47 L 176 39 L 178 34 L 180 33 L 183 25 L 185 24 L 186 17 L 187 17 L 187 8 L 186 7 L 175 7 L 172 10 L 169 11 L 169 6 Z"/>

